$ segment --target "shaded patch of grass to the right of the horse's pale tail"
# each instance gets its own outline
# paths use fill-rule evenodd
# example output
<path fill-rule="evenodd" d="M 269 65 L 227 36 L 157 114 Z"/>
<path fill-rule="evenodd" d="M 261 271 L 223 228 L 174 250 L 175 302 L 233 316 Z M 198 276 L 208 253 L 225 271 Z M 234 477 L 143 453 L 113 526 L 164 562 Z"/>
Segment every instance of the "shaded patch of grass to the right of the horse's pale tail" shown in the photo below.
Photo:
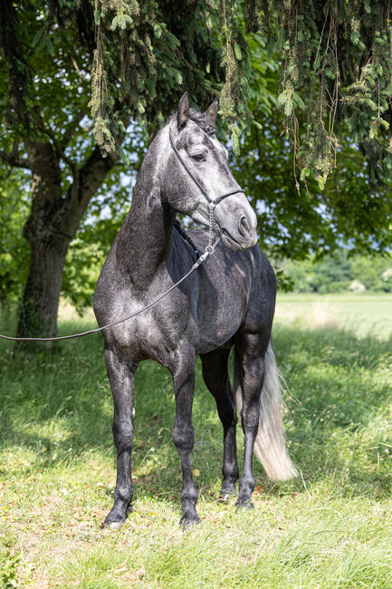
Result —
<path fill-rule="evenodd" d="M 391 343 L 328 327 L 276 329 L 291 454 L 308 488 L 330 478 L 340 496 L 390 495 Z"/>

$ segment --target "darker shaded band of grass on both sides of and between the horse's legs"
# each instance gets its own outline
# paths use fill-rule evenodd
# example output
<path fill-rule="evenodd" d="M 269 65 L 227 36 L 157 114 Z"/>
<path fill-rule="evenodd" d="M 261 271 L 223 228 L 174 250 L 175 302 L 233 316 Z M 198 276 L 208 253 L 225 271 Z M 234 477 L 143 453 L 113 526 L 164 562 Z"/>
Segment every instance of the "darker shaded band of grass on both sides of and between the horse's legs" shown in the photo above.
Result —
<path fill-rule="evenodd" d="M 77 331 L 77 325 L 68 328 Z M 339 496 L 387 496 L 392 483 L 391 342 L 358 338 L 336 328 L 278 326 L 274 343 L 290 389 L 285 420 L 290 453 L 308 492 L 328 482 L 331 492 Z M 29 452 L 33 468 L 43 469 L 53 467 L 53 453 L 57 462 L 71 465 L 74 460 L 83 461 L 93 448 L 110 457 L 114 467 L 112 404 L 102 347 L 99 335 L 38 353 L 15 355 L 9 346 L 2 347 L 2 453 Z M 222 430 L 215 401 L 200 372 L 197 362 L 193 465 L 203 497 L 215 500 Z M 171 441 L 173 420 L 169 373 L 154 362 L 142 362 L 136 377 L 133 453 L 139 496 L 179 498 L 180 462 Z M 238 434 L 241 457 L 240 428 Z M 257 484 L 265 493 L 305 493 L 301 478 L 273 485 L 254 463 Z"/>

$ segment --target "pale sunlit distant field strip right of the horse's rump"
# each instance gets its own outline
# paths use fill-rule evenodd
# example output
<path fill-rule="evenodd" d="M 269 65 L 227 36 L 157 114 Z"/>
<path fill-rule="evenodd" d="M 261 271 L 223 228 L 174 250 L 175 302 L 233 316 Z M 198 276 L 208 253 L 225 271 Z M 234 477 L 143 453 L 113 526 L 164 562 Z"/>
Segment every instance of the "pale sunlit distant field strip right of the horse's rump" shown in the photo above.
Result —
<path fill-rule="evenodd" d="M 305 327 L 343 327 L 387 339 L 392 334 L 392 294 L 278 294 L 276 320 Z"/>

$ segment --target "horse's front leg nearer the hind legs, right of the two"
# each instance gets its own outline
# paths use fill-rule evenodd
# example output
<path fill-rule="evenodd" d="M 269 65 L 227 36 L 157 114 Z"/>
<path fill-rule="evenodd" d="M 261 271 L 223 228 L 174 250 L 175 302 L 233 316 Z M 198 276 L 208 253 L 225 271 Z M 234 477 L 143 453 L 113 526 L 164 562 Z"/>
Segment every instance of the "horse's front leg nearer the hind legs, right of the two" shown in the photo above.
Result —
<path fill-rule="evenodd" d="M 191 459 L 195 443 L 195 433 L 192 425 L 195 360 L 195 352 L 187 352 L 178 360 L 176 368 L 172 371 L 176 395 L 176 418 L 172 436 L 181 459 L 183 514 L 180 524 L 183 526 L 196 524 L 200 521 L 196 512 L 197 491 L 192 475 Z"/>

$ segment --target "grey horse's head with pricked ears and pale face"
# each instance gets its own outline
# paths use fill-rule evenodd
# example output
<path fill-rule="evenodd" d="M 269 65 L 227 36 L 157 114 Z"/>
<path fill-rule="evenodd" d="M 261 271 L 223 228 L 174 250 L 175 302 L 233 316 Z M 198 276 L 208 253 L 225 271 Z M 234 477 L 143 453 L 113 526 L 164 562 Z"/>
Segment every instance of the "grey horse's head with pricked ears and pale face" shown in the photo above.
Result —
<path fill-rule="evenodd" d="M 162 193 L 171 208 L 214 228 L 225 246 L 254 246 L 256 216 L 228 165 L 225 146 L 215 137 L 218 102 L 206 112 L 189 107 L 187 94 L 167 124 L 167 157 L 161 168 Z"/>

